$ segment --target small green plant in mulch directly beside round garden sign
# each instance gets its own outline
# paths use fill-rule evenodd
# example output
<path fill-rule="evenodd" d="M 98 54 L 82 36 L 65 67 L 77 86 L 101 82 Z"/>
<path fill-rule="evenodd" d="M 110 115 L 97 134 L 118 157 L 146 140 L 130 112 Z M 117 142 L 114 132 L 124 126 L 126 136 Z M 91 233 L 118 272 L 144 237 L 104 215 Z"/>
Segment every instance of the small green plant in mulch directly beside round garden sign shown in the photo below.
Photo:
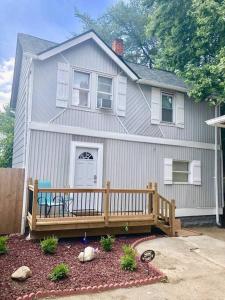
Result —
<path fill-rule="evenodd" d="M 120 259 L 121 268 L 125 271 L 135 271 L 137 269 L 136 251 L 130 245 L 122 247 L 124 255 Z"/>

